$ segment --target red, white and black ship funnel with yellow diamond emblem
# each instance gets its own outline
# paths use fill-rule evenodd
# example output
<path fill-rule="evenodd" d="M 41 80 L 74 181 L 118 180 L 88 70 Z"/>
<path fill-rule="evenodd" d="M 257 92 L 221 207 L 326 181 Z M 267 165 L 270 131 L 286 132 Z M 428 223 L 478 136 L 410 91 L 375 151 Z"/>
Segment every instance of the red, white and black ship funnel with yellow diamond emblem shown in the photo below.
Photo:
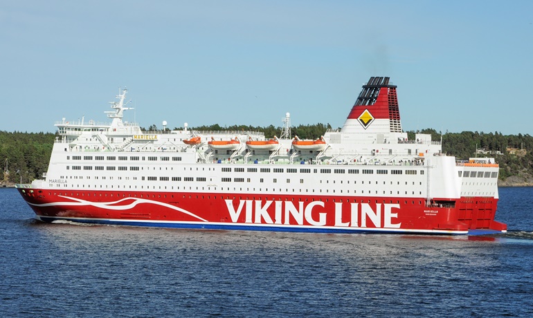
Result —
<path fill-rule="evenodd" d="M 341 131 L 401 133 L 396 87 L 389 77 L 370 77 Z"/>

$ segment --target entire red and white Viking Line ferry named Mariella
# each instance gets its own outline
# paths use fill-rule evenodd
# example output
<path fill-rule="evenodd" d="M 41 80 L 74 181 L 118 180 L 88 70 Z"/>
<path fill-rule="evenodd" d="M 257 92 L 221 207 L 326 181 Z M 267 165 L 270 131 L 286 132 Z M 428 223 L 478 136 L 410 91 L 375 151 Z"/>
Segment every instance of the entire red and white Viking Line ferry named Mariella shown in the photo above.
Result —
<path fill-rule="evenodd" d="M 370 77 L 341 129 L 313 140 L 255 131 L 143 131 L 56 122 L 42 180 L 16 185 L 44 222 L 330 233 L 495 234 L 498 165 L 455 160 L 401 129 L 397 86 Z"/>

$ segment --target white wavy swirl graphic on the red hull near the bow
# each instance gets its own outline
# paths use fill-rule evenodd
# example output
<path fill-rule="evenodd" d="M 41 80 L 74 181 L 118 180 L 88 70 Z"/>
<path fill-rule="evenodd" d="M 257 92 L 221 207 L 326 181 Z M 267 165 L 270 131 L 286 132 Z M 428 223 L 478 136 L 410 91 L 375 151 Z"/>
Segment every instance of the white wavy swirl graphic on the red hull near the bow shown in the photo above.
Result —
<path fill-rule="evenodd" d="M 82 200 L 80 198 L 72 198 L 70 196 L 60 196 L 61 198 L 67 198 L 67 199 L 70 199 L 70 200 L 74 200 L 74 201 L 77 201 L 77 202 L 52 202 L 52 203 L 42 203 L 42 204 L 37 204 L 37 203 L 29 203 L 30 205 L 33 205 L 35 207 L 54 207 L 54 206 L 62 206 L 62 205 L 69 205 L 69 206 L 85 206 L 85 205 L 91 205 L 93 207 L 98 207 L 99 209 L 111 209 L 111 210 L 115 210 L 115 211 L 120 211 L 120 210 L 127 210 L 127 209 L 132 209 L 134 208 L 136 205 L 138 204 L 141 204 L 141 203 L 147 203 L 147 204 L 154 204 L 154 205 L 161 205 L 162 207 L 168 207 L 169 209 L 173 209 L 175 211 L 179 211 L 181 213 L 184 213 L 184 214 L 187 214 L 189 216 L 193 216 L 201 221 L 204 221 L 204 222 L 207 222 L 207 220 L 205 220 L 204 218 L 201 218 L 195 214 L 192 214 L 191 212 L 188 212 L 186 209 L 181 209 L 179 207 L 174 207 L 174 205 L 170 205 L 170 204 L 167 204 L 167 203 L 162 203 L 162 202 L 158 202 L 158 201 L 154 201 L 154 200 L 147 200 L 147 199 L 143 199 L 143 198 L 123 198 L 123 199 L 120 199 L 118 201 L 113 201 L 113 202 L 105 202 L 105 203 L 101 203 L 101 202 L 91 202 L 91 201 L 87 201 L 87 200 Z M 133 202 L 132 203 L 129 203 L 127 205 L 115 205 L 115 204 L 118 204 L 118 203 L 122 203 L 123 201 L 125 200 L 132 200 Z"/>

